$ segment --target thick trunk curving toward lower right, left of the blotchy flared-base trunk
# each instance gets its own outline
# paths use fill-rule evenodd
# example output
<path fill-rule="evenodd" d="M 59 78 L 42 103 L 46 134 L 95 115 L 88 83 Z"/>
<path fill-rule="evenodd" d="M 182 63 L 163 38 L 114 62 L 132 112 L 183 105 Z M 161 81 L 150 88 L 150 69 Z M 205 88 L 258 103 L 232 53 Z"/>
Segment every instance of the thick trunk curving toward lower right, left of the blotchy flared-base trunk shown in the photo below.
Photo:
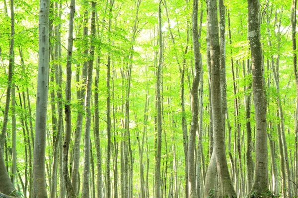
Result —
<path fill-rule="evenodd" d="M 211 98 L 213 113 L 213 130 L 214 130 L 214 148 L 216 164 L 222 188 L 222 196 L 235 198 L 236 193 L 233 189 L 230 175 L 227 168 L 225 157 L 225 139 L 224 139 L 224 123 L 221 98 L 221 82 L 220 82 L 220 44 L 219 29 L 217 18 L 217 2 L 216 0 L 208 0 L 208 22 L 210 35 L 210 55 L 211 55 Z"/>

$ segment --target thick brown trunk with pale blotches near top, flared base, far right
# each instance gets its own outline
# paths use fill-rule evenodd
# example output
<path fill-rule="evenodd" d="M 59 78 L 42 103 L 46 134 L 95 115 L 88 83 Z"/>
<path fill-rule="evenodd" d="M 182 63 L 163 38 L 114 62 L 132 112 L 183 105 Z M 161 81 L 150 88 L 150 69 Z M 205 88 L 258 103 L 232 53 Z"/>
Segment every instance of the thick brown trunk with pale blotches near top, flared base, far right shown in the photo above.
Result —
<path fill-rule="evenodd" d="M 250 195 L 261 196 L 268 189 L 268 151 L 266 107 L 263 90 L 262 49 L 260 43 L 260 3 L 248 0 L 248 38 L 252 59 L 252 88 L 256 119 L 255 177 Z"/>

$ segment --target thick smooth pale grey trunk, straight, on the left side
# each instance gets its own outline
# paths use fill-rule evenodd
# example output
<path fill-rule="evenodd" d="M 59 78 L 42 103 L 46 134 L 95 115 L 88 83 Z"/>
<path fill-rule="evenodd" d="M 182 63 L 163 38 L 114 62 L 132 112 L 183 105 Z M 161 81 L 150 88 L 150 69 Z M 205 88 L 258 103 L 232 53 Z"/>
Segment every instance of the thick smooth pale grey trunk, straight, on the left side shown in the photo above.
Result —
<path fill-rule="evenodd" d="M 49 0 L 40 0 L 39 62 L 33 154 L 33 197 L 38 198 L 47 198 L 45 151 L 49 82 L 49 6 Z"/>

